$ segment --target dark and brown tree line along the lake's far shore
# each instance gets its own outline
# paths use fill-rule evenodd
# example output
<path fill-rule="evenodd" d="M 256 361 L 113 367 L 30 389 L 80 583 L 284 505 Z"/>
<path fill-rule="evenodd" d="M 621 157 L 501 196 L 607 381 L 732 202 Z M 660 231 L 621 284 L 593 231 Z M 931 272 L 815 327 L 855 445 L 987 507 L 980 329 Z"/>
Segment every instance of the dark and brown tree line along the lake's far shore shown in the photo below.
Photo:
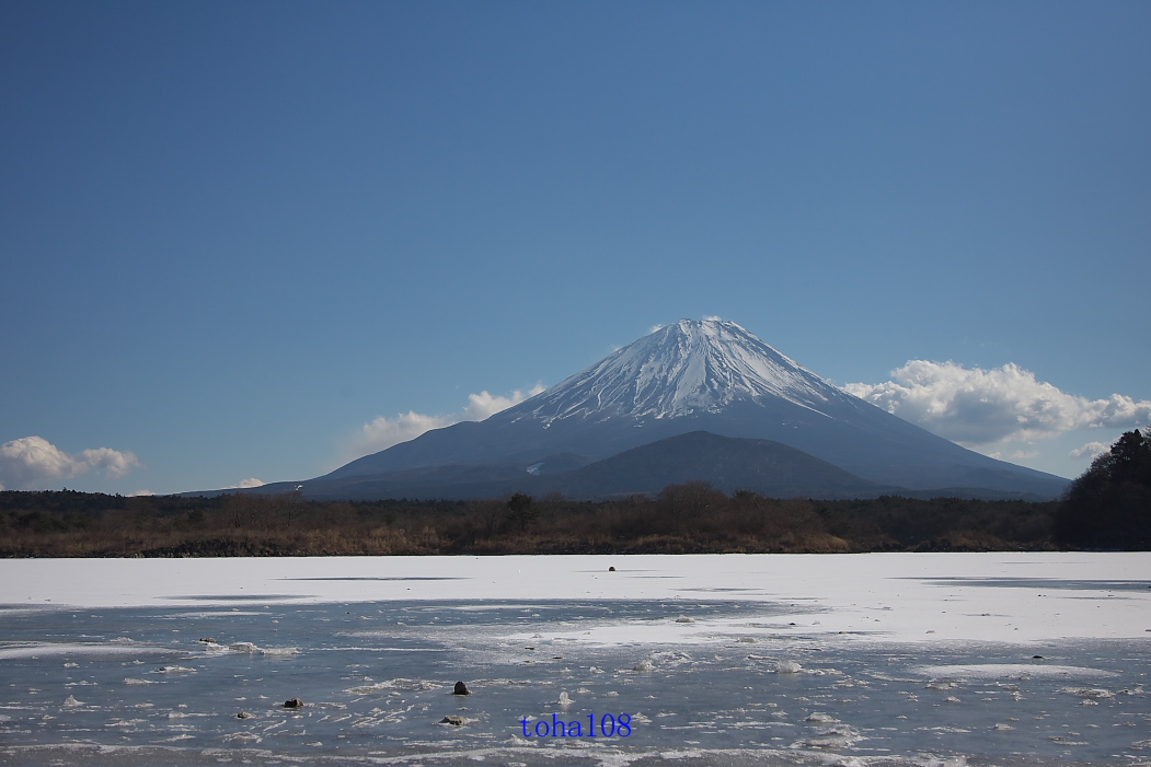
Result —
<path fill-rule="evenodd" d="M 1151 549 L 1151 438 L 1127 432 L 1059 501 L 727 494 L 315 501 L 0 491 L 0 557 L 813 553 Z"/>

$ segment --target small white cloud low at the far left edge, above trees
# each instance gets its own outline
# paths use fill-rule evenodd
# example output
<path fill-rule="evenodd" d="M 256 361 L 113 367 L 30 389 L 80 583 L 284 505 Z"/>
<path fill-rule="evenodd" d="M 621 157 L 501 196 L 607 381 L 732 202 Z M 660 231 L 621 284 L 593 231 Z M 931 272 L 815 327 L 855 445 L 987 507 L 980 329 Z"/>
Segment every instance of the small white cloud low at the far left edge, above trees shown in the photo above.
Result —
<path fill-rule="evenodd" d="M 104 469 L 109 480 L 120 480 L 138 466 L 130 451 L 97 447 L 69 454 L 44 437 L 22 437 L 0 445 L 0 476 L 18 490 L 40 489 L 92 469 Z"/>

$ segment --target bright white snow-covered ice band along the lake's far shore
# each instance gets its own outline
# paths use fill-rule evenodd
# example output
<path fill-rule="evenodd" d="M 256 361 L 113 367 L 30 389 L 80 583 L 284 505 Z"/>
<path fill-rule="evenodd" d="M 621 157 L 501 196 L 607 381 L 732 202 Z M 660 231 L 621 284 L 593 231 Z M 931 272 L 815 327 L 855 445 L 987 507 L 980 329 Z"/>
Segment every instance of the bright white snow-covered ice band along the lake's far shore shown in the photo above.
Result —
<path fill-rule="evenodd" d="M 771 605 L 770 628 L 795 635 L 1022 643 L 1149 638 L 1149 586 L 1143 552 L 0 560 L 0 618 L 47 605 L 180 607 L 208 620 L 189 606 L 238 618 L 272 604 L 627 599 L 674 600 L 680 611 L 663 622 L 581 626 L 592 631 L 581 641 L 756 636 L 760 627 L 692 608 L 722 596 Z M 695 622 L 677 623 L 680 615 Z"/>

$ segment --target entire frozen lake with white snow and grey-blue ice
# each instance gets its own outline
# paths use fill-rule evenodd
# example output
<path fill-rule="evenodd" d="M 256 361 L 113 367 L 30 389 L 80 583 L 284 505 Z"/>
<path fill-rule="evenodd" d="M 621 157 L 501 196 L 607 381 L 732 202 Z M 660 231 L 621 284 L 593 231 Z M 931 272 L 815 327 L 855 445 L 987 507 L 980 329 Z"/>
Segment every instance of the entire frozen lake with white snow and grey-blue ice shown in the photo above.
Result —
<path fill-rule="evenodd" d="M 0 762 L 1145 765 L 1149 651 L 1148 553 L 0 560 Z"/>

